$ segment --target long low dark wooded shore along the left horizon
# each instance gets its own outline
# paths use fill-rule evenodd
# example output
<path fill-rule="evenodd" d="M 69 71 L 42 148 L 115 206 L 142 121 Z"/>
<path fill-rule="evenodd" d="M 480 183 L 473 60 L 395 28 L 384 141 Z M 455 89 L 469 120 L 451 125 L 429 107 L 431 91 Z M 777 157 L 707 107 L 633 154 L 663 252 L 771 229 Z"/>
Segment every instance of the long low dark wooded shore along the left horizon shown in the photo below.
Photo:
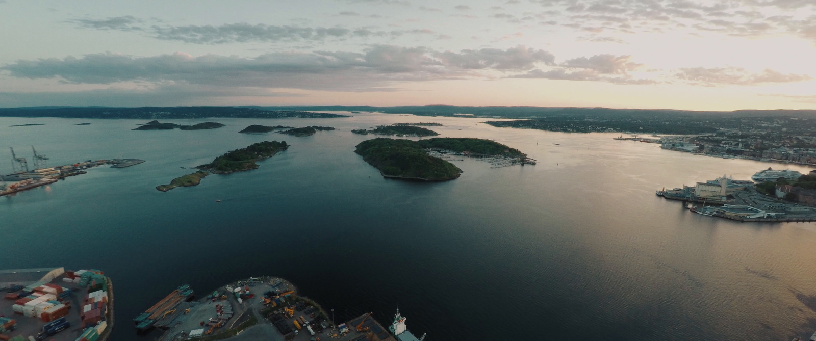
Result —
<path fill-rule="evenodd" d="M 29 107 L 0 108 L 0 117 L 65 117 L 65 118 L 334 118 L 349 117 L 336 113 L 312 113 L 299 109 L 268 110 L 259 107 Z"/>

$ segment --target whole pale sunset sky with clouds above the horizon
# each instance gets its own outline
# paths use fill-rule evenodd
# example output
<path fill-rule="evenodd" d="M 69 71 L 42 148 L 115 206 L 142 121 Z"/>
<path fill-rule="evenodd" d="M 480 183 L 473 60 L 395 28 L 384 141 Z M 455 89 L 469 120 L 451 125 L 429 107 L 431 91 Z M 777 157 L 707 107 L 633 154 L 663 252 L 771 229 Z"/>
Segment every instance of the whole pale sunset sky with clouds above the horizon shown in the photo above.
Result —
<path fill-rule="evenodd" d="M 816 0 L 0 0 L 0 107 L 816 109 Z"/>

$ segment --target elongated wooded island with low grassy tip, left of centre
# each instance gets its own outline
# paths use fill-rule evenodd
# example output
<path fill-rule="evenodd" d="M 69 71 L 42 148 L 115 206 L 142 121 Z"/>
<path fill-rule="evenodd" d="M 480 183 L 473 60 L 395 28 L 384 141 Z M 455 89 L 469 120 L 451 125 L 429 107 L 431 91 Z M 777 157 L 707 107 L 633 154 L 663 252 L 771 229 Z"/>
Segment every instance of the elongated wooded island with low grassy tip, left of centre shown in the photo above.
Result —
<path fill-rule="evenodd" d="M 230 174 L 236 171 L 249 171 L 258 168 L 261 160 L 275 156 L 278 152 L 282 152 L 289 148 L 286 141 L 264 141 L 257 144 L 251 144 L 249 147 L 235 149 L 215 157 L 210 163 L 206 165 L 197 166 L 197 171 L 193 174 L 184 175 L 180 178 L 173 179 L 171 184 L 163 184 L 157 186 L 156 189 L 162 192 L 167 192 L 176 187 L 195 186 L 201 183 L 201 179 L 210 174 Z"/>

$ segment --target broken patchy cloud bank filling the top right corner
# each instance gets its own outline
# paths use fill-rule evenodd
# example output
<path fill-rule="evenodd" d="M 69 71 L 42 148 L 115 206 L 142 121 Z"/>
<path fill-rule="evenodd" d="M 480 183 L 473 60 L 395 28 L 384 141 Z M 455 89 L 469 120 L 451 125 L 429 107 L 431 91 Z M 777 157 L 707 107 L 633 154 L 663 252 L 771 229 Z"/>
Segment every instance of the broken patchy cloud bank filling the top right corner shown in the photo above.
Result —
<path fill-rule="evenodd" d="M 816 42 L 813 0 L 530 0 L 561 7 L 565 27 L 594 32 L 665 30 L 758 38 L 795 35 Z M 564 21 L 564 20 L 561 20 Z"/>

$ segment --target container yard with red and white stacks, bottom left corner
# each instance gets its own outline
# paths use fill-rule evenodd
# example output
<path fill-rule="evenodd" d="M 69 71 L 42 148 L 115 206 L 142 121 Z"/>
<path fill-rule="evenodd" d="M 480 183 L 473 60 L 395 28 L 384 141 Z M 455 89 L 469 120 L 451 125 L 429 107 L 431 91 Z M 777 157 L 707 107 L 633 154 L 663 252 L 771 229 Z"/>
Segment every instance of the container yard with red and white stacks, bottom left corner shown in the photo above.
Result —
<path fill-rule="evenodd" d="M 0 340 L 106 341 L 113 283 L 100 270 L 0 271 Z"/>

